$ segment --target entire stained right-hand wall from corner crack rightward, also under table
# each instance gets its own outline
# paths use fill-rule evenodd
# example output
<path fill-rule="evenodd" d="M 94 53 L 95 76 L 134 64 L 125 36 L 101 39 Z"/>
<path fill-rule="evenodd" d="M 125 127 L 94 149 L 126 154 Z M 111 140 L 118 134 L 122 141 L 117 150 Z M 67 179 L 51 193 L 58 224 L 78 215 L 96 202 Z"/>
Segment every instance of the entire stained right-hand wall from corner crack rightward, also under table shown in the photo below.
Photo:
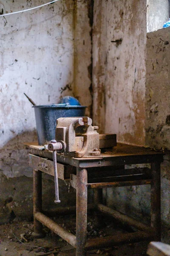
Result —
<path fill-rule="evenodd" d="M 146 1 L 94 1 L 93 118 L 100 131 L 115 132 L 120 142 L 169 148 L 170 29 L 147 34 L 146 13 Z M 170 242 L 169 169 L 167 155 L 161 165 L 165 242 Z M 104 195 L 108 206 L 149 223 L 150 186 L 107 189 Z"/>

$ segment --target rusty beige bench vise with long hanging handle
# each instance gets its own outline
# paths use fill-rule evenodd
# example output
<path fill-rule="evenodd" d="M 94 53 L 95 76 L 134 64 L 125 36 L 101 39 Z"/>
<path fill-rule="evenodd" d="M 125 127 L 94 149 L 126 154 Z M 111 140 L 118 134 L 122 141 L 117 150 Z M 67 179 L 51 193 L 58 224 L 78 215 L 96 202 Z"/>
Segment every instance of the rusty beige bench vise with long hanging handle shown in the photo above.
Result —
<path fill-rule="evenodd" d="M 89 117 L 60 117 L 57 119 L 56 140 L 48 144 L 48 150 L 53 151 L 54 178 L 55 178 L 55 203 L 59 203 L 58 176 L 57 176 L 57 153 L 68 157 L 95 157 L 101 154 L 105 147 L 103 137 L 108 136 L 108 143 L 116 145 L 113 135 L 99 135 L 98 126 L 92 126 Z M 110 142 L 109 142 L 110 140 Z M 110 145 L 110 146 L 111 146 Z"/>

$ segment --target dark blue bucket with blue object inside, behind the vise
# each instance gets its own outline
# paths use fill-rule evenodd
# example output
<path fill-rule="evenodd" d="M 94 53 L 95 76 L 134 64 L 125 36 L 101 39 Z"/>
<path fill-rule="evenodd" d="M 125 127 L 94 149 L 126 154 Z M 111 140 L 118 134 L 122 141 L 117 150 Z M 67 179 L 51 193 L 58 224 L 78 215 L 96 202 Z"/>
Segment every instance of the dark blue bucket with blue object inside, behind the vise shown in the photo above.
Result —
<path fill-rule="evenodd" d="M 73 98 L 73 97 L 71 97 Z M 75 99 L 75 98 L 73 98 Z M 70 100 L 70 99 L 69 99 Z M 75 99 L 75 104 L 77 99 Z M 73 102 L 73 101 L 72 101 Z M 79 102 L 78 102 L 79 103 Z M 55 140 L 56 120 L 59 117 L 85 116 L 86 106 L 69 105 L 70 103 L 33 106 L 37 127 L 38 144 L 45 145 Z"/>

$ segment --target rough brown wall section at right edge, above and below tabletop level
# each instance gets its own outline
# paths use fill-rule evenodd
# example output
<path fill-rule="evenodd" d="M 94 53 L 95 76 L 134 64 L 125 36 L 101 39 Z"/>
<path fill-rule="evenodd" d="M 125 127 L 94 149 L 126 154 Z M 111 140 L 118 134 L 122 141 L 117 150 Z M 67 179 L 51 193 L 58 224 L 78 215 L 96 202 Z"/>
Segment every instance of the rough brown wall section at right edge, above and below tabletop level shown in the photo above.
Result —
<path fill-rule="evenodd" d="M 170 28 L 147 34 L 146 144 L 170 150 Z M 170 243 L 170 156 L 161 165 L 162 236 Z"/>

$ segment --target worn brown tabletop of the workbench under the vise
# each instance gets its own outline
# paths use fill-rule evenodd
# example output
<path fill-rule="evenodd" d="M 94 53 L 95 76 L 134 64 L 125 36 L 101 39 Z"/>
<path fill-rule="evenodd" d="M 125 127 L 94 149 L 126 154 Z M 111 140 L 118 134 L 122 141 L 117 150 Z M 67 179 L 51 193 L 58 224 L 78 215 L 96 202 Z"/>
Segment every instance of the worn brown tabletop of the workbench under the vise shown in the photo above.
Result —
<path fill-rule="evenodd" d="M 42 151 L 42 146 L 38 143 L 25 143 L 30 148 L 30 153 L 40 157 L 52 159 L 52 151 Z M 96 167 L 96 166 L 115 166 L 137 163 L 162 162 L 163 152 L 154 151 L 150 148 L 127 145 L 118 143 L 113 151 L 106 151 L 98 157 L 68 157 L 57 154 L 57 160 L 61 163 L 69 164 L 80 168 Z"/>

